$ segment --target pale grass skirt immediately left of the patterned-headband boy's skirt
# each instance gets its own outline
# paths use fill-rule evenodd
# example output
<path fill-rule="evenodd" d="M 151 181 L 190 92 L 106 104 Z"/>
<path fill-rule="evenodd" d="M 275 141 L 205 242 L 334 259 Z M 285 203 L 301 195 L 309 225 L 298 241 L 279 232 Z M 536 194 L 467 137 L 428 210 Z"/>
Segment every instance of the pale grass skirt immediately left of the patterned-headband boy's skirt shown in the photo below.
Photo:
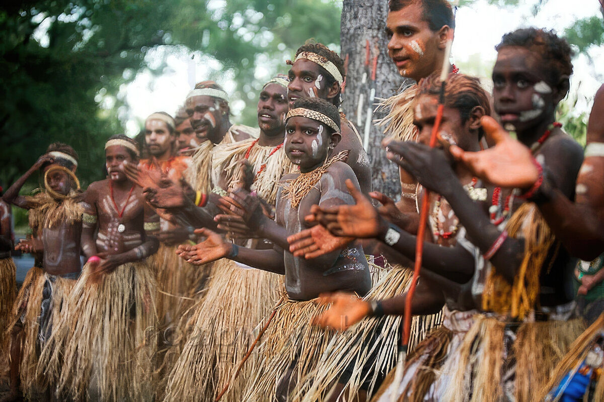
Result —
<path fill-rule="evenodd" d="M 214 263 L 207 294 L 193 307 L 188 339 L 167 379 L 165 401 L 214 401 L 254 342 L 278 298 L 283 275 Z M 266 336 L 266 334 L 265 334 Z M 255 370 L 254 355 L 231 380 L 225 401 L 240 401 Z"/>

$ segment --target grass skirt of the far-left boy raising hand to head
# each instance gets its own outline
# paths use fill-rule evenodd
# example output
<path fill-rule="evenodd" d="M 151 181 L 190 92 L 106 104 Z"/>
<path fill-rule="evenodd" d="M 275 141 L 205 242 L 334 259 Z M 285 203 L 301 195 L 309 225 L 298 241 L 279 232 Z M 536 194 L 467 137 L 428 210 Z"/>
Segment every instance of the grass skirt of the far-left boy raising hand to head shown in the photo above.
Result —
<path fill-rule="evenodd" d="M 21 365 L 19 378 L 24 395 L 30 396 L 43 391 L 47 385 L 45 378 L 37 372 L 40 357 L 40 313 L 42 309 L 42 291 L 48 279 L 42 268 L 33 267 L 25 275 L 25 280 L 11 312 L 11 321 L 3 334 L 2 355 L 6 362 L 10 359 L 11 332 L 15 325 L 21 323 L 23 336 L 21 344 Z M 76 280 L 56 277 L 51 294 L 52 314 L 49 319 L 51 328 L 56 328 L 61 319 L 61 310 L 66 309 L 68 295 L 75 286 Z"/>

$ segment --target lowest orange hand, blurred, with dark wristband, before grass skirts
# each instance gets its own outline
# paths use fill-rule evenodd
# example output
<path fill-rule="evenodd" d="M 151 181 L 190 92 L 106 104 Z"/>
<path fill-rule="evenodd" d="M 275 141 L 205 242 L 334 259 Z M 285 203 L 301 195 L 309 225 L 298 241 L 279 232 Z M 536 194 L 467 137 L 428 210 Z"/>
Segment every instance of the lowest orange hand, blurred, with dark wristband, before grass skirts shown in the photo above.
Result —
<path fill-rule="evenodd" d="M 322 294 L 316 303 L 323 306 L 331 304 L 328 310 L 312 319 L 313 325 L 327 329 L 345 331 L 371 313 L 367 301 L 345 292 Z"/>

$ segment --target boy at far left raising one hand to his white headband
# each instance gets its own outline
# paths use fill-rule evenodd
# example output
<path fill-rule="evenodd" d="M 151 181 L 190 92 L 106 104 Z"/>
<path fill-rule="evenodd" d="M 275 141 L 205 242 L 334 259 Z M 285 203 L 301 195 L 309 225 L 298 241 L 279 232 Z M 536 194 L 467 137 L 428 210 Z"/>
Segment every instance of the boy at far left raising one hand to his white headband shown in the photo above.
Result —
<path fill-rule="evenodd" d="M 10 322 L 2 328 L 6 339 L 2 351 L 7 354 L 10 351 L 8 400 L 19 397 L 19 385 L 27 397 L 48 386 L 46 379 L 36 373 L 40 348 L 47 346 L 60 311 L 67 307 L 66 297 L 82 269 L 80 236 L 84 207 L 77 192 L 76 168 L 76 151 L 69 145 L 53 143 L 3 197 L 7 203 L 29 210 L 33 240 L 22 240 L 16 249 L 42 253 L 41 268 L 34 266 L 28 271 Z M 43 174 L 45 191 L 20 196 L 19 190 L 36 171 Z M 47 397 L 54 399 L 58 395 L 51 392 Z"/>

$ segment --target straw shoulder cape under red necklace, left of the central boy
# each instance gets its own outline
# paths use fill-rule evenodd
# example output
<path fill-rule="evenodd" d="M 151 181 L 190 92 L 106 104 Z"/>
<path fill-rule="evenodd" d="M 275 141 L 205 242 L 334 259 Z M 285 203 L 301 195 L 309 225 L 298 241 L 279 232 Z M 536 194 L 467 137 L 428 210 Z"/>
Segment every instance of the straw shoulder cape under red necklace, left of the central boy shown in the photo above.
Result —
<path fill-rule="evenodd" d="M 255 139 L 251 138 L 233 144 L 218 145 L 214 148 L 212 152 L 212 180 L 214 183 L 219 183 L 220 175 L 223 173 L 226 174 L 225 183 L 230 183 L 230 186 L 242 181 L 240 163 L 245 160 L 245 154 L 254 141 Z M 297 172 L 297 166 L 289 160 L 283 147 L 269 157 L 273 149 L 275 149 L 274 146 L 256 144 L 252 146 L 248 158 L 255 174 L 266 163 L 266 168 L 255 178 L 251 189 L 272 205 L 277 199 L 277 183 L 281 176 Z"/>

